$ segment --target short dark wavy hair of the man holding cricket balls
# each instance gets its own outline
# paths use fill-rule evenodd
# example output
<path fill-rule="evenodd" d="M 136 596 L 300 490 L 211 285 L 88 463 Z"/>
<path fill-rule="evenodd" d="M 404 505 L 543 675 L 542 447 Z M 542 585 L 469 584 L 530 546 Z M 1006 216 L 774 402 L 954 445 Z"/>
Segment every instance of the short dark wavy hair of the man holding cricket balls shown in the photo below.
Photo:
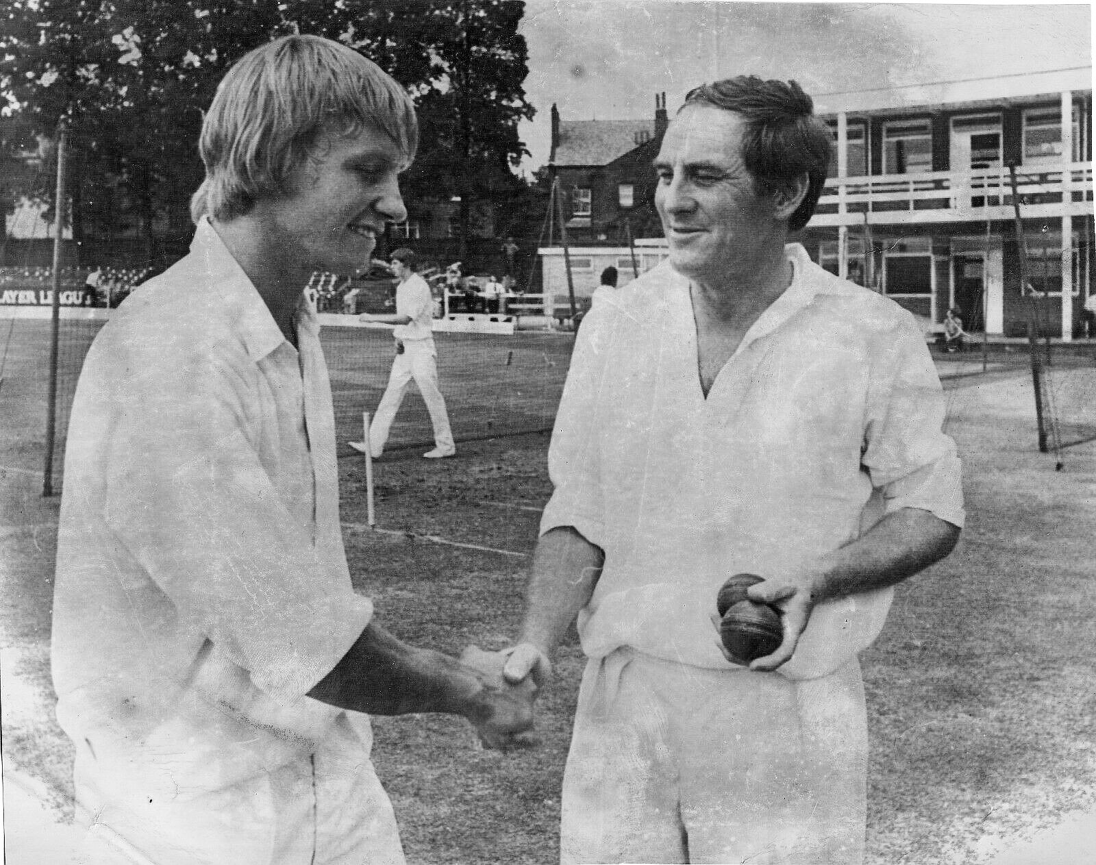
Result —
<path fill-rule="evenodd" d="M 742 161 L 758 194 L 786 190 L 807 174 L 807 195 L 788 228 L 798 231 L 806 226 L 822 195 L 833 146 L 829 127 L 814 115 L 814 102 L 803 89 L 795 81 L 738 76 L 694 88 L 677 113 L 689 105 L 742 115 Z"/>

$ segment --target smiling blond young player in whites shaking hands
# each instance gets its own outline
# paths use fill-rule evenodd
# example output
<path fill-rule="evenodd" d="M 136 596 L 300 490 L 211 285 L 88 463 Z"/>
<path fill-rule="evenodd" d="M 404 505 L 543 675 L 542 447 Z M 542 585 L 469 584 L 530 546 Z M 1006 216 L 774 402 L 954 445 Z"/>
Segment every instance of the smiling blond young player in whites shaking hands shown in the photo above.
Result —
<path fill-rule="evenodd" d="M 466 716 L 505 748 L 513 687 L 397 640 L 351 585 L 315 271 L 407 212 L 411 101 L 315 36 L 258 48 L 202 129 L 191 253 L 88 354 L 65 459 L 57 717 L 81 863 L 400 865 L 364 713 Z"/>

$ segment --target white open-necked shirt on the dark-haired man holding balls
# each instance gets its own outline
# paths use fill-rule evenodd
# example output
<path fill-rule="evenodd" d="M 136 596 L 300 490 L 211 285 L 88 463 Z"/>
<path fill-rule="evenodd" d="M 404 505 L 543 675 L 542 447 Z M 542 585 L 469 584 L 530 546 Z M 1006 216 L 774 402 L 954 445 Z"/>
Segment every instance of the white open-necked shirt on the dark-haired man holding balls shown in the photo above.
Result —
<path fill-rule="evenodd" d="M 963 522 L 960 464 L 915 319 L 801 246 L 786 251 L 791 284 L 707 397 L 689 282 L 669 263 L 583 320 L 540 530 L 572 526 L 605 553 L 579 616 L 592 658 L 630 647 L 734 669 L 709 621 L 727 577 L 795 572 L 902 508 Z M 781 672 L 836 669 L 878 635 L 891 597 L 817 606 Z"/>

